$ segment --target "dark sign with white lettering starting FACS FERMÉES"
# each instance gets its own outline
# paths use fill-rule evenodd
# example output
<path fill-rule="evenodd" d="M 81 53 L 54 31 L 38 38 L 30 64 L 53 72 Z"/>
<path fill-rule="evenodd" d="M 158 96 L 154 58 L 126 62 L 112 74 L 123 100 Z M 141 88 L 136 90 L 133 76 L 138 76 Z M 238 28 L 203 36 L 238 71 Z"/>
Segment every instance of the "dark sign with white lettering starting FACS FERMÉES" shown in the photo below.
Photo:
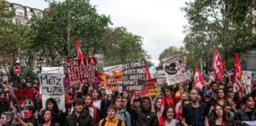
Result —
<path fill-rule="evenodd" d="M 145 89 L 145 65 L 145 60 L 122 65 L 122 91 L 141 91 Z"/>

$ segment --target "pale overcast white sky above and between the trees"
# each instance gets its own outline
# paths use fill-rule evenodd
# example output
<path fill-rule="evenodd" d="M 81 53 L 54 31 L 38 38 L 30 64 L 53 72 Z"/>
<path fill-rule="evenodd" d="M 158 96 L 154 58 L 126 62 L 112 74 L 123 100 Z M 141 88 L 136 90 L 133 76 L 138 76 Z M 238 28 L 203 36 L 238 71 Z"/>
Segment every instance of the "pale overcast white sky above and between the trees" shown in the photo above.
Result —
<path fill-rule="evenodd" d="M 7 0 L 36 9 L 47 8 L 44 0 Z M 187 0 L 90 0 L 98 13 L 109 15 L 111 27 L 126 27 L 140 35 L 143 48 L 158 65 L 158 57 L 169 46 L 183 46 L 183 26 L 187 24 L 181 10 Z"/>

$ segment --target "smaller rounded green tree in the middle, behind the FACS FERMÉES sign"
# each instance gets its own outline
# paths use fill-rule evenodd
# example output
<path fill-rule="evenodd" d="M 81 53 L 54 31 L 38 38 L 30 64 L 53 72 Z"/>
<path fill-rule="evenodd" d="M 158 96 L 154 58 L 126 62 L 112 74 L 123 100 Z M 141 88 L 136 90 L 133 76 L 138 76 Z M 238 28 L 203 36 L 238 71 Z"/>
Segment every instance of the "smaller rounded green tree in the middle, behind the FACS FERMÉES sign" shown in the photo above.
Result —
<path fill-rule="evenodd" d="M 150 58 L 142 48 L 141 36 L 133 35 L 126 28 L 109 28 L 105 40 L 105 65 L 119 65 Z"/>

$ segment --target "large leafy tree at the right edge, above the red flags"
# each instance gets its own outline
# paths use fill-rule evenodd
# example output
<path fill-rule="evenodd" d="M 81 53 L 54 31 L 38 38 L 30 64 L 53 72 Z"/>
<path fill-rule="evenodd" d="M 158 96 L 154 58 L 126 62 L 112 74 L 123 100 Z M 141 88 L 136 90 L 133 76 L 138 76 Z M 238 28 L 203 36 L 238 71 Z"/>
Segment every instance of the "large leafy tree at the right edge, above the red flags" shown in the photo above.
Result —
<path fill-rule="evenodd" d="M 186 12 L 189 25 L 186 26 L 184 43 L 188 53 L 194 56 L 188 57 L 188 62 L 191 59 L 201 61 L 207 72 L 211 65 L 213 46 L 216 45 L 226 61 L 226 67 L 232 68 L 233 54 L 252 43 L 255 37 L 251 32 L 254 21 L 251 11 L 254 7 L 255 4 L 249 0 L 186 2 L 183 11 Z M 242 16 L 237 14 L 239 12 Z M 198 62 L 191 63 L 198 65 Z"/>

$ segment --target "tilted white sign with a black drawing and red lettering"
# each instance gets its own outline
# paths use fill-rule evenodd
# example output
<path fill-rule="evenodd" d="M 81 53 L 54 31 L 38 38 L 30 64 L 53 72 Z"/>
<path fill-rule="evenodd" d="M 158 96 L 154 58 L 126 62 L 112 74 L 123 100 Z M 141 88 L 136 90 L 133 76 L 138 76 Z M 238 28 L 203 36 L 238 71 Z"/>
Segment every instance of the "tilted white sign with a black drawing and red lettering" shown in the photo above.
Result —
<path fill-rule="evenodd" d="M 180 55 L 165 57 L 162 61 L 168 85 L 186 81 L 186 66 Z"/>

